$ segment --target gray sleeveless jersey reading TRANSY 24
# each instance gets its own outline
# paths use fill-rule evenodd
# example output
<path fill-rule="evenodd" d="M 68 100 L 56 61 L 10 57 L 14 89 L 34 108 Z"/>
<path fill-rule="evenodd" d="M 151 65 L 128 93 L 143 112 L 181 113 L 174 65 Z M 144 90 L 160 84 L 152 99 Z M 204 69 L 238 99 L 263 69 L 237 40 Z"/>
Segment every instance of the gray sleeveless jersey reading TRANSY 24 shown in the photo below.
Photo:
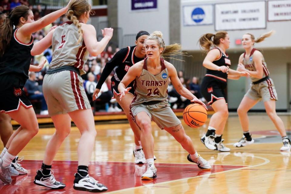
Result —
<path fill-rule="evenodd" d="M 131 106 L 139 105 L 150 101 L 164 101 L 168 98 L 168 70 L 161 58 L 162 71 L 158 75 L 153 75 L 147 70 L 146 59 L 142 69 L 142 74 L 134 81 L 135 95 Z"/>

